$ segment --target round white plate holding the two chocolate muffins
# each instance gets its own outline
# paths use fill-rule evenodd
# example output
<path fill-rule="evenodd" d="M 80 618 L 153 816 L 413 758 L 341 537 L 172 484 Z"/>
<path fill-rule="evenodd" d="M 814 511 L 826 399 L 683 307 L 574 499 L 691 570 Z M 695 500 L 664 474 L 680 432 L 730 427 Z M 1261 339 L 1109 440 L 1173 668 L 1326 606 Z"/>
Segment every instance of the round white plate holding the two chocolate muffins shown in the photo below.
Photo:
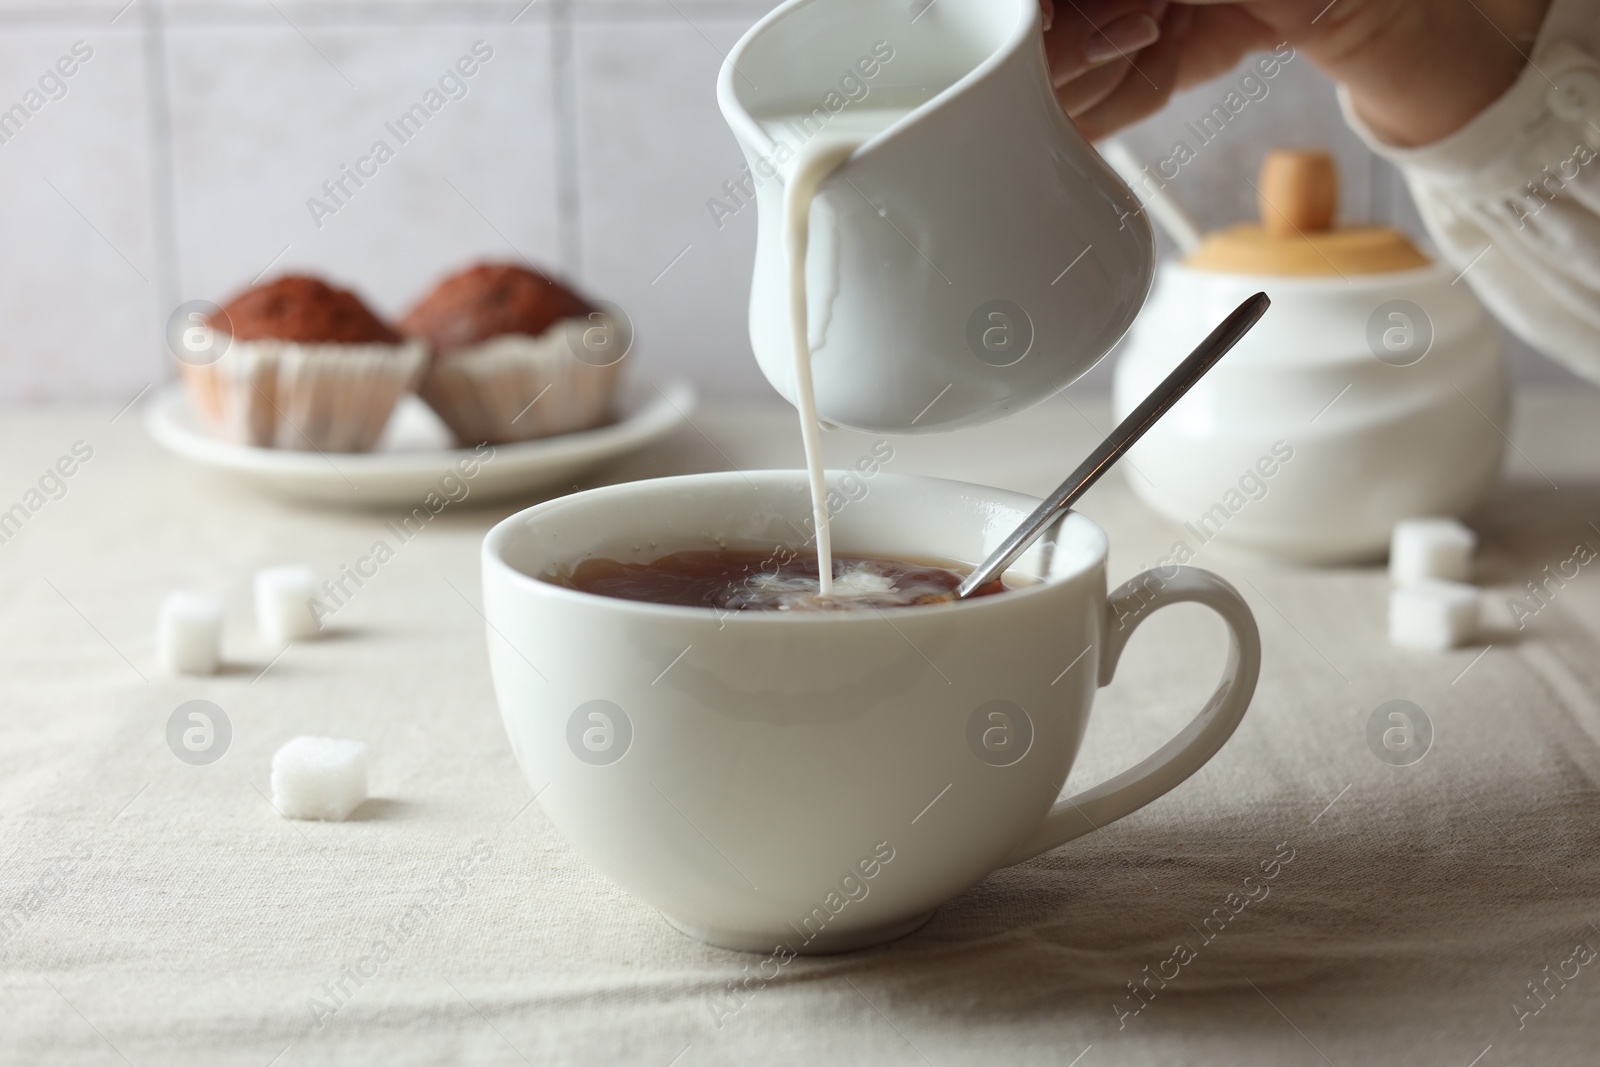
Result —
<path fill-rule="evenodd" d="M 642 448 L 686 421 L 694 389 L 683 381 L 662 386 L 624 382 L 618 421 L 597 430 L 560 434 L 517 445 L 496 445 L 494 456 L 472 477 L 472 496 L 501 499 L 552 485 L 606 459 Z M 144 416 L 150 437 L 197 464 L 227 470 L 282 496 L 347 507 L 418 504 L 472 450 L 453 448 L 438 416 L 416 397 L 405 397 L 370 453 L 315 453 L 232 445 L 208 435 L 182 386 L 168 386 Z"/>

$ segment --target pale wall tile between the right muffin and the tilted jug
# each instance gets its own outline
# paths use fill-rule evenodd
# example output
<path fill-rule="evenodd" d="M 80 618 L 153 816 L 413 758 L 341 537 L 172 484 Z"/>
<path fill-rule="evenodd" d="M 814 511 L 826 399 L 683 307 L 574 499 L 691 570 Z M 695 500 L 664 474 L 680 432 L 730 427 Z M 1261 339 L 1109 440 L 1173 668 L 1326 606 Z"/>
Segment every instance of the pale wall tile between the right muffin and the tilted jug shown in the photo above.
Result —
<path fill-rule="evenodd" d="M 746 325 L 755 218 L 718 229 L 706 206 L 744 163 L 715 82 L 749 21 L 573 27 L 579 254 L 584 280 L 634 315 L 640 344 L 707 387 L 765 394 Z"/>

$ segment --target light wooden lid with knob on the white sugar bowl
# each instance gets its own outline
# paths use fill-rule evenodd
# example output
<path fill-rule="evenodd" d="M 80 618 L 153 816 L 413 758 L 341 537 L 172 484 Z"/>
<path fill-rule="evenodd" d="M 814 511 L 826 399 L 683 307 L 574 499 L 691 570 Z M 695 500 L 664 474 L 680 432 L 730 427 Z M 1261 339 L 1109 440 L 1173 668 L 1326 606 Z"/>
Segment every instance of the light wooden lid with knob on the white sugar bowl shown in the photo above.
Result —
<path fill-rule="evenodd" d="M 1184 261 L 1187 267 L 1331 277 L 1416 270 L 1432 262 L 1405 234 L 1387 226 L 1334 227 L 1339 174 L 1326 152 L 1269 152 L 1256 190 L 1261 224 L 1211 234 Z"/>

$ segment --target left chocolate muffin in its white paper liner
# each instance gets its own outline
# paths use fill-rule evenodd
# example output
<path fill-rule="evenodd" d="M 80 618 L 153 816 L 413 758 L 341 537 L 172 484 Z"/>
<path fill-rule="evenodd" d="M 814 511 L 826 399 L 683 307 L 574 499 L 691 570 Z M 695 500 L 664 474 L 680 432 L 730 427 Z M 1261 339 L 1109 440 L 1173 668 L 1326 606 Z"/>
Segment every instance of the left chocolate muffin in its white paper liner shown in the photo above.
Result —
<path fill-rule="evenodd" d="M 317 278 L 246 290 L 208 325 L 226 350 L 179 374 L 211 430 L 242 445 L 368 451 L 427 362 L 424 344 Z"/>

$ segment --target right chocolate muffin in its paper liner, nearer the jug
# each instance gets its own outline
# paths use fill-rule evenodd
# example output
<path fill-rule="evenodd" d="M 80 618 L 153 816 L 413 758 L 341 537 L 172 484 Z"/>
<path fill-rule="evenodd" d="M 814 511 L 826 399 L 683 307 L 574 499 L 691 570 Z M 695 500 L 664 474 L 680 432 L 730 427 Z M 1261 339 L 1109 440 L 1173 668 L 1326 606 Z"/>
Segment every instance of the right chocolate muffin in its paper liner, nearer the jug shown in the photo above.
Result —
<path fill-rule="evenodd" d="M 629 347 L 616 317 L 515 264 L 480 264 L 445 278 L 400 328 L 432 346 L 418 394 L 462 445 L 610 421 Z"/>

